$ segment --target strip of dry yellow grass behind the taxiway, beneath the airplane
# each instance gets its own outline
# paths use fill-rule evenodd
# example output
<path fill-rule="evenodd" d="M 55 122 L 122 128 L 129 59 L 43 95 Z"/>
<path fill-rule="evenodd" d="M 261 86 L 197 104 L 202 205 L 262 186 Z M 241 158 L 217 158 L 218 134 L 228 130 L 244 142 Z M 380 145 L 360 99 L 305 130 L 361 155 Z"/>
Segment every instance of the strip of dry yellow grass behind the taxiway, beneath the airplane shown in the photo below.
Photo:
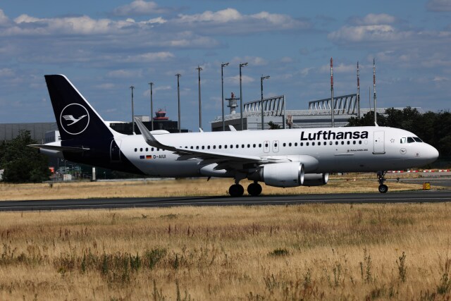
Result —
<path fill-rule="evenodd" d="M 419 176 L 419 175 L 403 175 Z M 396 175 L 388 175 L 388 178 Z M 249 181 L 240 183 L 247 188 Z M 88 197 L 175 197 L 228 195 L 231 179 L 206 178 L 181 180 L 142 180 L 123 182 L 74 182 L 49 184 L 0 183 L 1 200 L 76 199 Z M 273 188 L 264 185 L 264 195 L 304 193 L 377 192 L 378 183 L 373 173 L 331 176 L 329 183 L 319 187 Z M 421 190 L 421 184 L 388 183 L 390 191 Z"/>

